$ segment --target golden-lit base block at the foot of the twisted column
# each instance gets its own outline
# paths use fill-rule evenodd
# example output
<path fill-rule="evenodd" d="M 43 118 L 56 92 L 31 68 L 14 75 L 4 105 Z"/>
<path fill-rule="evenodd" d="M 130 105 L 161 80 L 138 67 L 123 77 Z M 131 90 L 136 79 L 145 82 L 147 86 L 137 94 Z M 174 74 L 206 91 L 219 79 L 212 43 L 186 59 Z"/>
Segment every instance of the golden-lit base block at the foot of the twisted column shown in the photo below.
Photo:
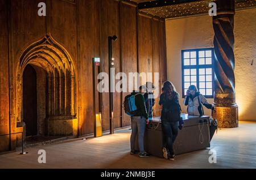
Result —
<path fill-rule="evenodd" d="M 235 128 L 238 127 L 238 106 L 218 106 L 214 105 L 216 112 L 213 113 L 213 118 L 217 119 L 218 127 Z"/>

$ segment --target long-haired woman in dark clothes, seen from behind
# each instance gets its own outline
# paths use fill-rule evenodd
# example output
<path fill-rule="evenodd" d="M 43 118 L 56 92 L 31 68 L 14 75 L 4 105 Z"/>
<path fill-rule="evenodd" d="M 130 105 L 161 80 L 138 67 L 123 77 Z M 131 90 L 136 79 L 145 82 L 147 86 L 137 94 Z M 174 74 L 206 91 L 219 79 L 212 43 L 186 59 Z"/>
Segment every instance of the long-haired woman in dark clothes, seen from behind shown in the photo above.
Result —
<path fill-rule="evenodd" d="M 181 109 L 179 105 L 179 93 L 174 84 L 165 82 L 163 93 L 160 95 L 159 105 L 162 106 L 161 122 L 163 133 L 163 157 L 174 160 L 174 142 L 177 138 Z"/>

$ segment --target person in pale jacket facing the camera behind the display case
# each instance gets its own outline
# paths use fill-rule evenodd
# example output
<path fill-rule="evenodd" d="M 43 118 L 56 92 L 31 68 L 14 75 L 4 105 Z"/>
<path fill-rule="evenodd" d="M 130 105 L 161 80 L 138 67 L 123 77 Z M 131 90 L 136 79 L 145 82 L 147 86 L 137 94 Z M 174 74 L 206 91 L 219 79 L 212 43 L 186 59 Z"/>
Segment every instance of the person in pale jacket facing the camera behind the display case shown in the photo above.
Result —
<path fill-rule="evenodd" d="M 191 85 L 188 88 L 187 96 L 184 99 L 184 105 L 188 106 L 188 115 L 204 115 L 204 109 L 203 105 L 207 109 L 214 110 L 214 107 L 209 104 L 207 99 L 201 95 L 201 93 L 198 91 L 197 87 L 195 85 Z"/>

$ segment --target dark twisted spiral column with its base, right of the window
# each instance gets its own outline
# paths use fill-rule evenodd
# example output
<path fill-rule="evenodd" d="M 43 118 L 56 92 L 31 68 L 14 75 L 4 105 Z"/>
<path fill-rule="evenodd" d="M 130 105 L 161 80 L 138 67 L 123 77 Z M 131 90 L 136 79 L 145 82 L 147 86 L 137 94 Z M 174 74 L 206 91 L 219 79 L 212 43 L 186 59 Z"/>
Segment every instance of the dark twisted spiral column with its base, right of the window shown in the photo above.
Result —
<path fill-rule="evenodd" d="M 217 16 L 213 16 L 215 94 L 213 117 L 220 127 L 238 127 L 235 92 L 234 0 L 217 0 Z"/>

